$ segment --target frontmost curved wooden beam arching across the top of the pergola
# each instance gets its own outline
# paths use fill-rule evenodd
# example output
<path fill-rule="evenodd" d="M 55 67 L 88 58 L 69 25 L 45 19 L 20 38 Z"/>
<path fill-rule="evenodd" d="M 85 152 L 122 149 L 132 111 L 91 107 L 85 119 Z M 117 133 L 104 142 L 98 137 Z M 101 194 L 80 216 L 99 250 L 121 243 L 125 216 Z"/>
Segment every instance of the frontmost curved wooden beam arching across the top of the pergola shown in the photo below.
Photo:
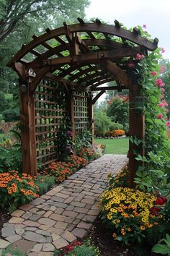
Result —
<path fill-rule="evenodd" d="M 130 40 L 133 43 L 138 44 L 138 46 L 144 46 L 150 51 L 154 51 L 157 48 L 158 40 L 154 40 L 153 43 L 146 39 L 142 38 L 140 35 L 125 30 L 124 28 L 117 27 L 114 25 L 106 25 L 101 24 L 98 25 L 97 23 L 84 23 L 84 24 L 75 24 L 75 25 L 69 25 L 69 31 L 70 33 L 76 33 L 76 32 L 90 32 L 91 34 L 93 32 L 97 33 L 104 33 L 109 35 L 116 35 L 117 37 Z M 19 61 L 19 59 L 22 59 L 24 55 L 26 55 L 28 52 L 30 52 L 35 47 L 45 43 L 46 41 L 56 38 L 60 35 L 65 35 L 66 30 L 65 27 L 59 27 L 55 30 L 48 30 L 47 33 L 40 35 L 39 37 L 32 40 L 30 43 L 28 43 L 26 46 L 23 46 L 21 50 L 17 52 L 15 56 L 12 57 L 12 59 L 8 63 L 8 67 L 12 67 L 14 62 Z M 93 34 L 92 34 L 93 35 Z M 96 39 L 94 37 L 94 39 Z"/>

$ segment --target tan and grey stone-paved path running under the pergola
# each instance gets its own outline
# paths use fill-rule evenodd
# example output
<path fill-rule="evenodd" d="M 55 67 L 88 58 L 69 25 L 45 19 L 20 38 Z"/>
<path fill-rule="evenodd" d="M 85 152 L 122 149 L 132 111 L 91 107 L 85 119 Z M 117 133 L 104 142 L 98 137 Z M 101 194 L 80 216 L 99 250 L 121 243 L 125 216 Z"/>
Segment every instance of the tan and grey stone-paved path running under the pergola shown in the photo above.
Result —
<path fill-rule="evenodd" d="M 84 239 L 99 214 L 98 201 L 107 174 L 116 174 L 127 162 L 126 155 L 103 155 L 19 207 L 1 229 L 0 249 L 11 244 L 29 256 L 50 256 L 55 248 Z"/>

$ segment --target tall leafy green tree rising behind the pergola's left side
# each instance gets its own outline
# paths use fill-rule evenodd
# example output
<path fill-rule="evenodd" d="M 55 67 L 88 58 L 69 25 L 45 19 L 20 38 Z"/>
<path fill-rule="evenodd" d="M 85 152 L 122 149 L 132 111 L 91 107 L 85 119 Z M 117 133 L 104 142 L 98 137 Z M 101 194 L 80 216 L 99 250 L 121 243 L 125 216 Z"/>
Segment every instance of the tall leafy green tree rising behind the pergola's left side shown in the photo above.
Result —
<path fill-rule="evenodd" d="M 6 63 L 33 34 L 84 18 L 89 0 L 0 0 L 0 114 L 19 117 L 17 75 Z M 13 114 L 13 117 L 12 115 Z"/>

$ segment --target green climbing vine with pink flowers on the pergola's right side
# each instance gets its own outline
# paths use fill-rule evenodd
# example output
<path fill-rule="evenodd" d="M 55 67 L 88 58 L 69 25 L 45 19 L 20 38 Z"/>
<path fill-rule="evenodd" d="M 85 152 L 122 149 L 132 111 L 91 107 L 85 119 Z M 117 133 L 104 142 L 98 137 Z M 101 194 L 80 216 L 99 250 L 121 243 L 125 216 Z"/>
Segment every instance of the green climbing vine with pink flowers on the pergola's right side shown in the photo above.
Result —
<path fill-rule="evenodd" d="M 141 29 L 141 27 L 140 27 Z M 143 32 L 144 33 L 144 32 Z M 148 36 L 148 35 L 147 35 Z M 161 73 L 164 67 L 159 65 L 162 59 L 161 53 L 164 48 L 157 48 L 155 51 L 142 56 L 133 72 L 140 74 L 139 83 L 142 87 L 141 96 L 145 99 L 143 114 L 145 115 L 145 152 L 148 161 L 153 167 L 156 164 L 150 155 L 157 155 L 164 163 L 169 160 L 170 143 L 166 135 L 167 121 L 166 100 L 164 99 L 165 83 L 161 80 Z"/>

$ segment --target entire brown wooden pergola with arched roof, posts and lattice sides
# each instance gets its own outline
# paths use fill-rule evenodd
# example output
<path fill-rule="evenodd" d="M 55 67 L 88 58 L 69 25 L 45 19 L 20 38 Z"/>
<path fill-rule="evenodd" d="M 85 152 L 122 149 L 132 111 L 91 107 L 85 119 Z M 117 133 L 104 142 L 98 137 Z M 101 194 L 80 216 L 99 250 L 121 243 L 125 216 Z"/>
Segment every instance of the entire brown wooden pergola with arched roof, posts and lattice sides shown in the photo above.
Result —
<path fill-rule="evenodd" d="M 75 132 L 83 132 L 93 118 L 92 106 L 106 90 L 129 90 L 130 136 L 144 138 L 144 117 L 135 110 L 140 85 L 128 64 L 136 54 L 157 48 L 143 38 L 140 30 L 125 30 L 120 22 L 102 24 L 100 20 L 46 30 L 23 45 L 8 63 L 19 75 L 23 172 L 35 176 L 37 160 L 42 166 L 57 160 L 57 132 L 71 120 Z M 102 87 L 115 81 L 116 86 Z M 92 92 L 99 92 L 92 98 Z M 129 170 L 133 183 L 138 162 L 136 145 L 130 142 Z M 138 150 L 144 154 L 143 143 Z"/>

